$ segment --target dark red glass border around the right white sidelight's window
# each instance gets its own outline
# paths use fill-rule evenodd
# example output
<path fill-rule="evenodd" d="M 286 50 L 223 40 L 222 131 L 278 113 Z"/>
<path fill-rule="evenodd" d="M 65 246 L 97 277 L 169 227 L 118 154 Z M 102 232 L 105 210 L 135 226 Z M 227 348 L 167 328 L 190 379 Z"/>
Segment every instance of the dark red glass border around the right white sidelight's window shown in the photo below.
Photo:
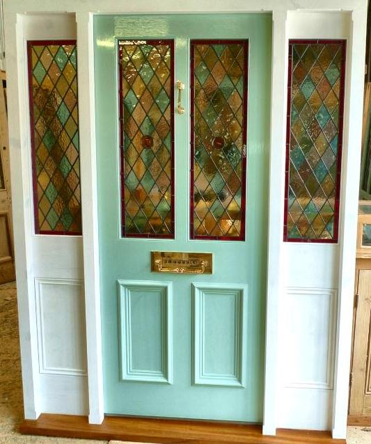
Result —
<path fill-rule="evenodd" d="M 303 239 L 302 237 L 287 237 L 287 214 L 290 182 L 290 116 L 291 116 L 291 86 L 292 86 L 292 46 L 293 45 L 341 45 L 342 61 L 340 70 L 340 97 L 339 97 L 339 129 L 338 129 L 338 159 L 336 164 L 335 182 L 335 210 L 333 214 L 332 239 Z M 345 96 L 345 62 L 347 55 L 347 40 L 345 39 L 290 39 L 287 75 L 287 116 L 286 116 L 286 161 L 285 161 L 285 202 L 283 216 L 283 241 L 305 242 L 309 244 L 337 244 L 339 237 L 339 209 L 341 188 L 341 161 L 342 161 L 342 130 L 344 125 L 344 96 Z"/>

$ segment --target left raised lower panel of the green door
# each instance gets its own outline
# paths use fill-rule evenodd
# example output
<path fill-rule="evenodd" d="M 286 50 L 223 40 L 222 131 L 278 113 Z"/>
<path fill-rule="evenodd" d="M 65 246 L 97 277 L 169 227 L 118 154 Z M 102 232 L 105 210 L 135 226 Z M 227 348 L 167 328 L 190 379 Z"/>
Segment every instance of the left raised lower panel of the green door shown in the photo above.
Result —
<path fill-rule="evenodd" d="M 172 382 L 172 285 L 118 280 L 122 381 Z"/>

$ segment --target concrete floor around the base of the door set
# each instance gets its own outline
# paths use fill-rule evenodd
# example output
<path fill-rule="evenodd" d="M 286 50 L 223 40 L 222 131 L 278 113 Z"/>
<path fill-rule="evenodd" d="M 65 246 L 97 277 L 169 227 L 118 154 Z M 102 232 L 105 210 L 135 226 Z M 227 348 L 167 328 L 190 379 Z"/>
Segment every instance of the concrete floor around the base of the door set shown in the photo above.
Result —
<path fill-rule="evenodd" d="M 18 433 L 18 425 L 23 419 L 23 404 L 15 283 L 0 285 L 0 328 L 0 443 L 108 444 L 107 441 L 25 436 Z M 115 443 L 118 441 L 111 441 L 110 444 Z M 371 444 L 371 427 L 348 427 L 347 443 Z"/>

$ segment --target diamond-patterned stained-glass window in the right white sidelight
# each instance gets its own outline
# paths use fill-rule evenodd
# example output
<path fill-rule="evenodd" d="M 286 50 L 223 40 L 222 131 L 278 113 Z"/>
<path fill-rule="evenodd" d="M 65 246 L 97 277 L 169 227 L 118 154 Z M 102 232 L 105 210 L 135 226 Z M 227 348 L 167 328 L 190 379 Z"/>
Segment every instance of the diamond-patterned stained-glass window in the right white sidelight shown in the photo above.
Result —
<path fill-rule="evenodd" d="M 336 242 L 345 40 L 290 40 L 285 241 Z"/>

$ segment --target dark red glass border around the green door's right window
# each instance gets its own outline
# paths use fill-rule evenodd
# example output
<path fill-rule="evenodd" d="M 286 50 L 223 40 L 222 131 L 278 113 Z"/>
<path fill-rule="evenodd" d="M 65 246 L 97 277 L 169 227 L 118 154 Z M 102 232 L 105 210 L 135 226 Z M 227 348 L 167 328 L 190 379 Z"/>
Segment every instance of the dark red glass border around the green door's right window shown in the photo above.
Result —
<path fill-rule="evenodd" d="M 243 132 L 242 132 L 242 143 L 245 148 L 245 152 L 242 152 L 242 178 L 241 183 L 244 184 L 242 187 L 241 195 L 241 234 L 238 237 L 228 237 L 228 236 L 201 236 L 194 235 L 194 47 L 195 45 L 232 45 L 239 44 L 244 47 L 244 97 L 242 97 L 242 106 L 244 108 L 244 118 L 242 122 Z M 191 84 L 190 84 L 190 95 L 191 95 L 191 165 L 190 165 L 190 184 L 189 184 L 189 237 L 190 239 L 201 239 L 201 240 L 219 240 L 219 241 L 244 241 L 246 234 L 246 153 L 247 153 L 247 94 L 248 94 L 248 40 L 241 39 L 192 39 L 191 40 Z"/>

